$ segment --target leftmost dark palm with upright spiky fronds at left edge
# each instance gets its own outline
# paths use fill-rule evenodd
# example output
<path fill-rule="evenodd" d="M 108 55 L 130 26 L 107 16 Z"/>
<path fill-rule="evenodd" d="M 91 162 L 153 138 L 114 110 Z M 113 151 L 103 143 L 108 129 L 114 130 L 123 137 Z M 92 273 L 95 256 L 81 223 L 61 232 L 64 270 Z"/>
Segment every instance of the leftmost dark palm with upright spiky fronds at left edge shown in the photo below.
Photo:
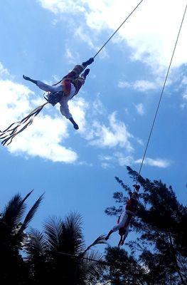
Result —
<path fill-rule="evenodd" d="M 37 199 L 33 207 L 26 212 L 26 199 L 15 195 L 6 205 L 0 217 L 0 253 L 1 253 L 1 282 L 2 284 L 28 284 L 28 268 L 20 254 L 26 240 L 25 229 L 33 219 L 43 198 Z M 23 217 L 25 218 L 23 219 Z"/>

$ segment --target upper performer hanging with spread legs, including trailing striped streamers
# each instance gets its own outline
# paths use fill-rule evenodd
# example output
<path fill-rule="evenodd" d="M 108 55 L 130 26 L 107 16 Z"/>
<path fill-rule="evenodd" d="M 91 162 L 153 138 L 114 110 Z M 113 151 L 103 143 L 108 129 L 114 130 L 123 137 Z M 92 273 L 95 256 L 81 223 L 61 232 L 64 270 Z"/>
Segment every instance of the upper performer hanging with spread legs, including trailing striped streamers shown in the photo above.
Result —
<path fill-rule="evenodd" d="M 73 123 L 73 127 L 75 130 L 78 130 L 78 124 L 73 120 L 73 116 L 70 114 L 68 108 L 68 100 L 72 99 L 73 96 L 77 95 L 82 85 L 85 83 L 85 78 L 90 72 L 90 69 L 84 69 L 90 65 L 94 61 L 94 58 L 90 58 L 88 61 L 82 63 L 82 65 L 77 65 L 73 68 L 73 71 L 70 71 L 66 76 L 63 77 L 61 81 L 56 83 L 53 86 L 49 86 L 46 83 L 41 81 L 36 81 L 34 79 L 29 78 L 28 76 L 23 76 L 26 81 L 31 81 L 36 84 L 42 90 L 48 92 L 46 95 L 47 102 L 43 105 L 39 106 L 35 110 L 33 110 L 30 114 L 28 114 L 23 120 L 13 123 L 6 128 L 4 131 L 0 131 L 0 139 L 4 139 L 1 143 L 5 145 L 9 145 L 14 137 L 21 133 L 24 129 L 33 123 L 33 118 L 41 112 L 43 107 L 50 103 L 51 105 L 55 105 L 56 103 L 60 103 L 60 113 L 65 116 L 71 123 Z M 82 71 L 84 71 L 82 73 Z M 81 74 L 82 73 L 82 74 Z M 81 76 L 80 76 L 81 74 Z"/>

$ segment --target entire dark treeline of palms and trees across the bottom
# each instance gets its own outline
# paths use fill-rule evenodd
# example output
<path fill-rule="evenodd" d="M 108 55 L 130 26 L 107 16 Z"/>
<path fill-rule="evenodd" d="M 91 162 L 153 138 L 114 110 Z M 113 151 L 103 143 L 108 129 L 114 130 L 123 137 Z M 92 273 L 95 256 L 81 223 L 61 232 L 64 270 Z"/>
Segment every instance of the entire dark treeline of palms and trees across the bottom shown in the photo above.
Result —
<path fill-rule="evenodd" d="M 135 182 L 137 172 L 130 167 L 127 171 Z M 115 205 L 105 212 L 117 216 L 127 202 L 130 188 L 118 177 L 115 179 L 123 192 L 114 193 Z M 141 190 L 137 217 L 132 219 L 137 239 L 126 244 L 130 254 L 108 247 L 107 266 L 106 262 L 97 262 L 103 260 L 102 256 L 92 250 L 105 239 L 100 236 L 85 247 L 78 213 L 71 212 L 65 219 L 50 217 L 43 224 L 43 232 L 28 232 L 43 195 L 28 213 L 26 199 L 32 191 L 23 199 L 15 195 L 0 215 L 1 283 L 94 285 L 102 280 L 116 285 L 187 284 L 187 207 L 178 202 L 172 187 L 160 180 L 141 176 L 138 180 Z"/>

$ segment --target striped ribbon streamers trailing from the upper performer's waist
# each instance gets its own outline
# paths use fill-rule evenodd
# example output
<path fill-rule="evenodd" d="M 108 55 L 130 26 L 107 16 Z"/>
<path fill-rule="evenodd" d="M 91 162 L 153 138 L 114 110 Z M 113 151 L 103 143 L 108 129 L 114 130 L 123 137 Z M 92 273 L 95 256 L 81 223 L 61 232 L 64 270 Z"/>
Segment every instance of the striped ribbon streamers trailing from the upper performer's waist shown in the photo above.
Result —
<path fill-rule="evenodd" d="M 18 133 L 23 132 L 23 130 L 25 130 L 29 125 L 31 125 L 31 123 L 33 123 L 33 119 L 41 112 L 41 110 L 43 109 L 43 107 L 46 104 L 48 104 L 48 102 L 46 102 L 43 105 L 40 105 L 36 109 L 32 110 L 32 112 L 29 113 L 22 120 L 15 122 L 15 123 L 12 123 L 11 125 L 9 125 L 8 128 L 6 128 L 6 130 L 4 130 L 4 131 L 0 130 L 0 139 L 4 139 L 4 140 L 2 140 L 1 144 L 2 145 L 10 145 L 10 143 L 16 137 L 16 135 L 18 135 Z M 13 126 L 14 126 L 14 128 L 13 128 Z M 21 129 L 18 130 L 18 128 L 21 128 Z M 9 142 L 9 143 L 7 143 L 7 142 Z"/>

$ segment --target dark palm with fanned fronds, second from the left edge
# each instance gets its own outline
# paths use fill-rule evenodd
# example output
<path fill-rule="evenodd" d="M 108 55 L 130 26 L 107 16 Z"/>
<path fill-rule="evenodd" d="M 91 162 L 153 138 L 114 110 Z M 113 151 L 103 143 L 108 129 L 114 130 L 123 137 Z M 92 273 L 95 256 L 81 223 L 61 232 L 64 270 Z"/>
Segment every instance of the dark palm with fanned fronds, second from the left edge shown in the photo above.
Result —
<path fill-rule="evenodd" d="M 102 237 L 85 247 L 80 214 L 72 212 L 64 220 L 50 218 L 44 231 L 45 234 L 32 231 L 26 249 L 34 284 L 95 284 L 104 266 L 90 261 L 102 260 L 91 248 L 103 243 Z"/>

